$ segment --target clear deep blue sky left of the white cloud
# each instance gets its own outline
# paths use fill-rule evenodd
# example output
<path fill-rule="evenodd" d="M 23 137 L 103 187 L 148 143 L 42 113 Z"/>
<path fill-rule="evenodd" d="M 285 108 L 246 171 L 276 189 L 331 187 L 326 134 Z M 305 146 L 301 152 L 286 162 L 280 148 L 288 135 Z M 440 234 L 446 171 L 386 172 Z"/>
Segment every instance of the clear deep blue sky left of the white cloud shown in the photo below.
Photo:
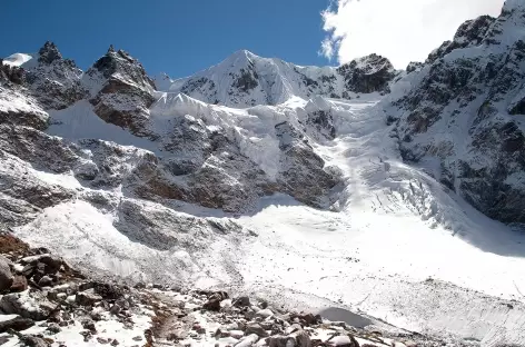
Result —
<path fill-rule="evenodd" d="M 320 12 L 328 0 L 23 0 L 3 1 L 0 57 L 34 52 L 55 41 L 86 69 L 110 43 L 138 58 L 148 73 L 184 77 L 239 49 L 299 65 L 328 65 L 318 54 Z"/>

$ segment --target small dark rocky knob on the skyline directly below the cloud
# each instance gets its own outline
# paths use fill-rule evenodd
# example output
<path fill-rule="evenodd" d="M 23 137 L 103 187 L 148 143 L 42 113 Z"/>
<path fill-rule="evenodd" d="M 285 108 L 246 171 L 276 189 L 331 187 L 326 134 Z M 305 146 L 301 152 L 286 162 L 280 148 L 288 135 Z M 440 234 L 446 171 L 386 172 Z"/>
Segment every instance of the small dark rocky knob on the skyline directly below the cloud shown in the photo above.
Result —
<path fill-rule="evenodd" d="M 337 71 L 343 75 L 347 90 L 363 93 L 388 91 L 388 82 L 395 77 L 392 62 L 377 54 L 353 60 Z"/>

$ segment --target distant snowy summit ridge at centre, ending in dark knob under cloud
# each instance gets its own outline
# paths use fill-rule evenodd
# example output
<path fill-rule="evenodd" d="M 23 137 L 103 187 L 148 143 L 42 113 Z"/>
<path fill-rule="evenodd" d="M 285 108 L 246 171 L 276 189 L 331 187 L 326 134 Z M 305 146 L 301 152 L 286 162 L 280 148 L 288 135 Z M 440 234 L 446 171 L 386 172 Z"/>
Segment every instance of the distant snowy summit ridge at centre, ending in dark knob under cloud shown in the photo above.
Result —
<path fill-rule="evenodd" d="M 361 92 L 386 92 L 395 76 L 388 59 L 376 54 L 339 68 L 319 68 L 296 66 L 240 50 L 191 77 L 170 80 L 161 75 L 156 83 L 159 90 L 181 92 L 207 103 L 242 108 L 278 105 L 294 96 L 350 99 Z"/>

